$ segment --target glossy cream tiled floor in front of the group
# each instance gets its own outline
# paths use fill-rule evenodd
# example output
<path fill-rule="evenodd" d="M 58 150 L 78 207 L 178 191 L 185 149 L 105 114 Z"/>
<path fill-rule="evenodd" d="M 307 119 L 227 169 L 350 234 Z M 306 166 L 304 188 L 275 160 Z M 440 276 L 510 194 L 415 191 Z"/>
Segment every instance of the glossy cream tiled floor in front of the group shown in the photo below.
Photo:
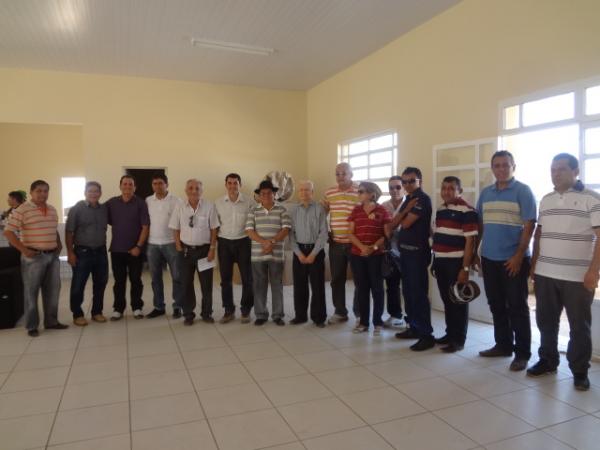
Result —
<path fill-rule="evenodd" d="M 128 316 L 36 339 L 0 331 L 0 449 L 598 448 L 600 364 L 581 393 L 564 364 L 530 379 L 478 357 L 493 340 L 482 323 L 454 355 L 351 328 Z"/>

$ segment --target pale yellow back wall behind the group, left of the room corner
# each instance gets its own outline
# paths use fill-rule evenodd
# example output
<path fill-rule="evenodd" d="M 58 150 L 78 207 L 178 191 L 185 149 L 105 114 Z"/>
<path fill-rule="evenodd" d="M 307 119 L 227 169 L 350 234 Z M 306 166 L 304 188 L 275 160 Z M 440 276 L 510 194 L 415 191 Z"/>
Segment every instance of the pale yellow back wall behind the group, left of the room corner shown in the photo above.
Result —
<path fill-rule="evenodd" d="M 0 69 L 2 122 L 80 124 L 76 175 L 100 181 L 105 198 L 118 193 L 123 166 L 167 166 L 179 195 L 185 180 L 198 177 L 208 198 L 224 193 L 232 171 L 247 191 L 271 170 L 306 176 L 304 92 Z M 22 165 L 2 145 L 0 154 L 2 172 L 10 167 L 26 180 L 49 176 L 45 165 Z M 72 174 L 71 153 L 52 156 Z M 0 177 L 0 193 L 11 188 Z"/>

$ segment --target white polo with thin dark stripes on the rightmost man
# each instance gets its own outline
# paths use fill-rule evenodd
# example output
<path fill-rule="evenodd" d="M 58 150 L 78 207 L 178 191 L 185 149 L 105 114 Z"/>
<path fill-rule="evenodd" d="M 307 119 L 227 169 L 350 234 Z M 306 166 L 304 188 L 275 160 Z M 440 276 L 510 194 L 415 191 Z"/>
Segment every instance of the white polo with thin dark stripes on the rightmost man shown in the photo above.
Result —
<path fill-rule="evenodd" d="M 583 282 L 594 254 L 600 227 L 600 194 L 585 188 L 554 191 L 540 202 L 540 253 L 535 273 Z"/>

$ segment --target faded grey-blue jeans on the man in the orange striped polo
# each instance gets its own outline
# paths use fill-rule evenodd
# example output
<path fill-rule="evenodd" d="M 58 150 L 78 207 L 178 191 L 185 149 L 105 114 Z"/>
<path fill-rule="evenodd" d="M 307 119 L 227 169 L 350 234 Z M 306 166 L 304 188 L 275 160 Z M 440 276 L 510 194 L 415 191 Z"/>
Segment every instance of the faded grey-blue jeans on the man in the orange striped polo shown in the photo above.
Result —
<path fill-rule="evenodd" d="M 25 327 L 36 330 L 40 324 L 38 293 L 42 291 L 44 326 L 58 323 L 58 298 L 60 294 L 60 262 L 54 253 L 40 253 L 32 258 L 21 256 Z"/>

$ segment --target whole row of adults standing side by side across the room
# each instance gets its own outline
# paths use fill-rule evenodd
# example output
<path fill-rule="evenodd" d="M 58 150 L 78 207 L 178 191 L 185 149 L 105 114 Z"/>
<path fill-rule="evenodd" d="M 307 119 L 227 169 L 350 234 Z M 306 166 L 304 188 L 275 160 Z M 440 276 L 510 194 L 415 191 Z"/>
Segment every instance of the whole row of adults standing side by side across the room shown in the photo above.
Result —
<path fill-rule="evenodd" d="M 565 308 L 570 325 L 569 367 L 575 387 L 587 390 L 591 303 L 600 271 L 600 195 L 578 180 L 577 159 L 559 154 L 551 167 L 554 191 L 542 199 L 538 215 L 531 189 L 514 178 L 515 168 L 510 152 L 501 150 L 493 155 L 491 169 L 496 181 L 483 189 L 476 208 L 462 198 L 458 177 L 444 178 L 433 230 L 431 199 L 422 189 L 423 177 L 416 167 L 391 177 L 391 199 L 379 204 L 382 192 L 377 184 L 353 181 L 350 165 L 338 164 L 337 183 L 325 191 L 323 201 L 315 201 L 312 182 L 302 181 L 300 202 L 294 208 L 275 201 L 277 187 L 269 180 L 254 191 L 256 200 L 247 197 L 240 191 L 242 180 L 236 173 L 225 177 L 226 195 L 214 203 L 202 198 L 202 183 L 197 179 L 186 182 L 187 198 L 182 201 L 169 193 L 167 177 L 158 174 L 152 180 L 154 194 L 144 201 L 135 196 L 135 180 L 124 175 L 121 195 L 106 203 L 100 203 L 100 184 L 90 181 L 85 200 L 71 208 L 66 223 L 68 261 L 73 267 L 73 321 L 79 326 L 88 323 L 81 305 L 90 275 L 91 318 L 106 321 L 102 312 L 108 282 L 106 232 L 111 225 L 114 303 L 110 320 L 123 317 L 127 279 L 133 316 L 144 317 L 141 256 L 145 250 L 154 300 L 154 309 L 146 317 L 165 314 L 162 277 L 167 265 L 173 280 L 173 317 L 183 317 L 185 325 L 194 323 L 197 273 L 202 292 L 200 317 L 213 323 L 213 267 L 218 259 L 224 309 L 219 322 L 235 319 L 232 278 L 237 263 L 242 282 L 241 321 L 249 323 L 254 308 L 255 325 L 265 324 L 270 316 L 283 326 L 284 242 L 289 236 L 295 309 L 290 323 L 302 324 L 310 318 L 317 327 L 324 327 L 326 322 L 348 321 L 346 278 L 350 265 L 355 283 L 353 332 L 368 332 L 371 324 L 375 335 L 386 325 L 405 328 L 396 338 L 415 340 L 411 350 L 441 344 L 444 352 L 460 351 L 467 337 L 468 305 L 453 302 L 450 289 L 466 284 L 475 268 L 483 273 L 496 342 L 480 356 L 514 355 L 510 370 L 521 371 L 527 369 L 531 357 L 528 278 L 532 277 L 541 345 L 539 361 L 527 374 L 542 376 L 556 371 L 559 322 Z M 61 242 L 56 210 L 47 204 L 48 190 L 45 181 L 32 183 L 31 200 L 11 212 L 5 230 L 22 255 L 25 322 L 30 336 L 38 335 L 40 289 L 45 328 L 66 328 L 57 318 Z M 334 306 L 329 320 L 325 303 L 327 243 Z M 437 339 L 431 325 L 429 269 L 445 307 L 446 333 Z M 386 296 L 389 318 L 384 322 Z"/>

